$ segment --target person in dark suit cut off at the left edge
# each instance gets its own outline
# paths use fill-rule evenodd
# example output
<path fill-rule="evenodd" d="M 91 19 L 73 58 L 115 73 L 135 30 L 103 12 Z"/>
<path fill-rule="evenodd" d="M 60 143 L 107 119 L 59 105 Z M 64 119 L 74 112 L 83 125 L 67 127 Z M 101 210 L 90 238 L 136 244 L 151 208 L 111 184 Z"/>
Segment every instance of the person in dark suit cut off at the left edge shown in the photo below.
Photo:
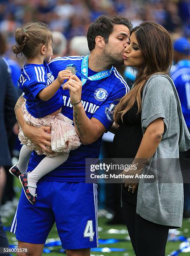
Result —
<path fill-rule="evenodd" d="M 9 166 L 11 165 L 11 158 L 8 146 L 8 138 L 11 134 L 14 124 L 16 123 L 16 118 L 14 115 L 14 105 L 18 97 L 16 89 L 11 81 L 7 64 L 2 58 L 0 58 L 0 79 L 0 166 Z M 0 172 L 2 172 L 2 169 L 0 169 Z M 0 195 L 2 194 L 2 189 L 2 176 L 0 174 Z M 9 244 L 7 241 L 7 237 L 0 220 L 0 247 L 5 248 L 8 246 Z M 2 253 L 2 255 L 4 254 L 5 253 Z"/>

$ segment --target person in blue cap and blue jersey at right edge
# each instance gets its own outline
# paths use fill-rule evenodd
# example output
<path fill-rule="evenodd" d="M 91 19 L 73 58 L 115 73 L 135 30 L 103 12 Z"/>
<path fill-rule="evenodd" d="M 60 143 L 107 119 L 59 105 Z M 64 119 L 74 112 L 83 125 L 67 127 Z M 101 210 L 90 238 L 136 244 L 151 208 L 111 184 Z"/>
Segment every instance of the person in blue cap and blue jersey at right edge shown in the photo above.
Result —
<path fill-rule="evenodd" d="M 174 66 L 171 77 L 180 97 L 181 107 L 185 122 L 190 131 L 190 43 L 186 38 L 178 38 L 174 42 Z M 184 210 L 183 216 L 190 218 L 190 179 L 187 178 L 189 172 L 190 150 L 180 152 L 180 164 L 184 179 Z"/>

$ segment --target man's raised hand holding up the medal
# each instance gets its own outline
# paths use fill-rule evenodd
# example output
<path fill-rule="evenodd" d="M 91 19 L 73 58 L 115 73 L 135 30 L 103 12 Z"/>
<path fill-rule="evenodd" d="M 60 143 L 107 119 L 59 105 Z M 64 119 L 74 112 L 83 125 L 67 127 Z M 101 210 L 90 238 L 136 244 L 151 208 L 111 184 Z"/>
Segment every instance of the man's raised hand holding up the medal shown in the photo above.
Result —
<path fill-rule="evenodd" d="M 82 82 L 76 75 L 72 75 L 62 88 L 63 90 L 69 90 L 70 101 L 72 103 L 80 102 L 82 93 Z"/>

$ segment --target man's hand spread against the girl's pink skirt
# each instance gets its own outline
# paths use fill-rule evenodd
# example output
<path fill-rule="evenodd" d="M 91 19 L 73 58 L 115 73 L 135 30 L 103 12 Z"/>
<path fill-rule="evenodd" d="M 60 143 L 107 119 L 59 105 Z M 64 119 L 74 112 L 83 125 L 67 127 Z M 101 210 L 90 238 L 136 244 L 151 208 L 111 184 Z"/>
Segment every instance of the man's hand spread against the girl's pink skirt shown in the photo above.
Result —
<path fill-rule="evenodd" d="M 41 148 L 42 151 L 50 154 L 53 153 L 53 151 L 47 148 L 47 146 L 51 147 L 51 136 L 49 135 L 51 133 L 51 130 L 49 126 L 41 126 L 39 128 L 36 128 L 25 123 L 23 132 L 25 136 L 27 136 L 30 141 L 32 141 L 32 143 L 37 146 L 37 148 Z"/>

